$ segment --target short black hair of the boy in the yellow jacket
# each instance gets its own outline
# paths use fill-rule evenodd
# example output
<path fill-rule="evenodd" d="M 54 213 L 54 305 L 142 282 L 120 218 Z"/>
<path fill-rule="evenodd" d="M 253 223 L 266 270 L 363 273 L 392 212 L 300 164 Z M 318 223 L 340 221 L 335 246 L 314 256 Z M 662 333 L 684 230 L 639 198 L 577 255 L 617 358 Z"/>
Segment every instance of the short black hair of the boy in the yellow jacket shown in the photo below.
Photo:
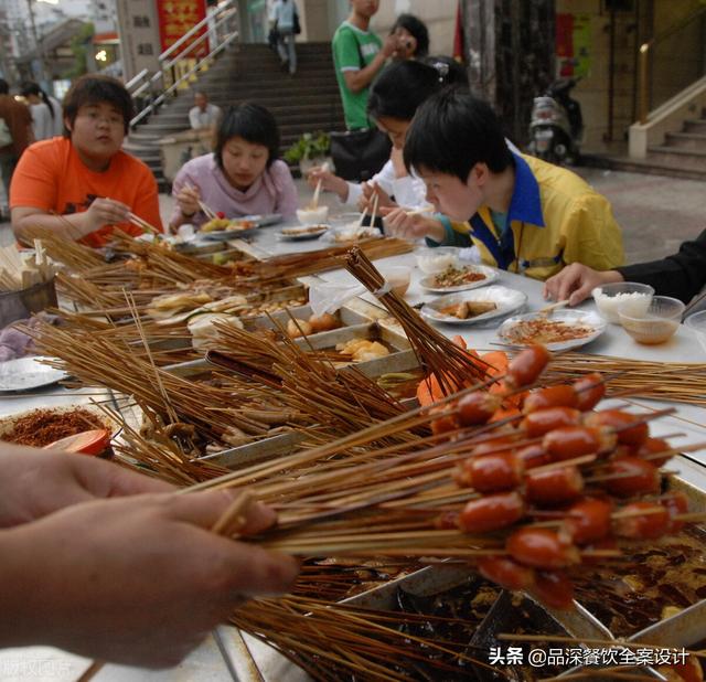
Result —
<path fill-rule="evenodd" d="M 513 164 L 500 119 L 468 89 L 452 87 L 427 99 L 407 131 L 407 169 L 456 175 L 466 182 L 477 163 L 494 173 Z"/>

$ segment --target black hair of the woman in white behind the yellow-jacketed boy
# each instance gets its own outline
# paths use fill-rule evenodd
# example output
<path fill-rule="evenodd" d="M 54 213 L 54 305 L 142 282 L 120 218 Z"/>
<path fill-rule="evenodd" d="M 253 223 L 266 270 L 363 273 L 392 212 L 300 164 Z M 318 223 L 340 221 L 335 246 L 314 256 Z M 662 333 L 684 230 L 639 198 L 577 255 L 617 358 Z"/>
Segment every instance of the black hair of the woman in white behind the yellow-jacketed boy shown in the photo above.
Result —
<path fill-rule="evenodd" d="M 405 60 L 393 62 L 375 78 L 367 98 L 367 114 L 411 120 L 417 108 L 434 93 L 447 85 L 468 83 L 462 66 L 451 71 L 446 63 L 438 64 Z"/>

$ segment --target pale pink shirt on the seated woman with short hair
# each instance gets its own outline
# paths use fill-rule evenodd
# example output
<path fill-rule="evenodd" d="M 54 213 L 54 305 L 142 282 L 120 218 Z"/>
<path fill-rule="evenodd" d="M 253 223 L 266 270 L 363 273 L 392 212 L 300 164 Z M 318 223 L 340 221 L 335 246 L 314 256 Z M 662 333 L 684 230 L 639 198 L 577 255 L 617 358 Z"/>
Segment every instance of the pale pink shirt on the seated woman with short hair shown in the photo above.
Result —
<path fill-rule="evenodd" d="M 242 192 L 226 180 L 214 154 L 207 153 L 184 163 L 174 179 L 172 194 L 176 195 L 184 184 L 196 188 L 201 201 L 226 217 L 267 213 L 281 213 L 285 219 L 297 215 L 297 188 L 289 167 L 280 160 L 266 169 L 246 192 Z M 178 217 L 179 205 L 175 205 L 172 220 Z M 206 222 L 206 216 L 200 211 L 191 222 L 201 225 Z"/>

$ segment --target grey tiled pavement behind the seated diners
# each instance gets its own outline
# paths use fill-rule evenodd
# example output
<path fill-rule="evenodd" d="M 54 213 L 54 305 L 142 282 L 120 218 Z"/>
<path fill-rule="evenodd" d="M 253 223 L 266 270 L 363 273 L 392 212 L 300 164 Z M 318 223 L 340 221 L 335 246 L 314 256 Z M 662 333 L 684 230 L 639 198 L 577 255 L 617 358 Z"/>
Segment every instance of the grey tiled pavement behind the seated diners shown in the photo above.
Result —
<path fill-rule="evenodd" d="M 678 245 L 706 228 L 706 183 L 662 175 L 575 169 L 612 203 L 623 228 L 628 263 L 650 260 L 674 253 Z M 301 196 L 311 190 L 297 180 Z M 335 205 L 332 195 L 327 203 Z M 162 217 L 169 219 L 173 201 L 160 195 Z M 0 244 L 12 239 L 9 225 L 0 224 Z"/>

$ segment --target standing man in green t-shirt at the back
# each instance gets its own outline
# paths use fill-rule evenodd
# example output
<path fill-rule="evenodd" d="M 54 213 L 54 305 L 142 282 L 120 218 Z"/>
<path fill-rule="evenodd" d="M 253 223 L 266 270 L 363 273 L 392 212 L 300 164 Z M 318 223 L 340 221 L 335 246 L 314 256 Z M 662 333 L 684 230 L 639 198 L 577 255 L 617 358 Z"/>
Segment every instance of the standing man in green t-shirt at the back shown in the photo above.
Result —
<path fill-rule="evenodd" d="M 349 130 L 370 128 L 367 93 L 373 78 L 397 47 L 397 38 L 385 42 L 367 29 L 379 0 L 351 0 L 351 14 L 333 35 L 333 64 Z"/>

